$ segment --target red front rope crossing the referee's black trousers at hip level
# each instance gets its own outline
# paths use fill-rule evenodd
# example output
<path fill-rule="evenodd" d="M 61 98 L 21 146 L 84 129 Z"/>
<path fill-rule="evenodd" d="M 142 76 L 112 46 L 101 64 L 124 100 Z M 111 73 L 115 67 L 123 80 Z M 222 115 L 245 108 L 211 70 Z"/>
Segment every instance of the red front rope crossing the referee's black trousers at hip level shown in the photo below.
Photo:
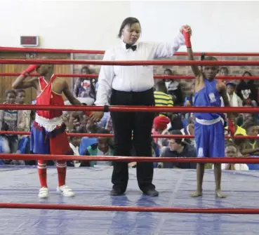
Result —
<path fill-rule="evenodd" d="M 62 111 L 103 111 L 103 106 L 84 105 L 0 105 L 4 110 L 62 110 Z M 258 113 L 259 107 L 149 107 L 149 106 L 117 106 L 109 107 L 109 112 L 192 112 L 192 113 Z"/>

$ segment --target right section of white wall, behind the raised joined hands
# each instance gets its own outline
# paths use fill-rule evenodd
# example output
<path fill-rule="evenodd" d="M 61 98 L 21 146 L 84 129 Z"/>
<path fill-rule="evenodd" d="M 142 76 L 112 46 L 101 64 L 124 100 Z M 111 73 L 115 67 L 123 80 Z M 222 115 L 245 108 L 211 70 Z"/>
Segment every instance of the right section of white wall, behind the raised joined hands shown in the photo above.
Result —
<path fill-rule="evenodd" d="M 259 1 L 132 1 L 131 15 L 142 24 L 142 40 L 170 40 L 188 24 L 194 51 L 259 51 Z"/>

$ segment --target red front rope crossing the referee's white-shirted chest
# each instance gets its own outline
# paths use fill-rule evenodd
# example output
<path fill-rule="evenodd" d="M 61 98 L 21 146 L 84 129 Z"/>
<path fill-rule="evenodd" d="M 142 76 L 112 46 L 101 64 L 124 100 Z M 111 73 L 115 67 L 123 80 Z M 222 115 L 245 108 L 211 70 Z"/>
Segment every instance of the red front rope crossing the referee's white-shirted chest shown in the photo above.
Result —
<path fill-rule="evenodd" d="M 259 61 L 208 61 L 208 60 L 21 60 L 21 59 L 0 59 L 2 65 L 259 65 Z"/>

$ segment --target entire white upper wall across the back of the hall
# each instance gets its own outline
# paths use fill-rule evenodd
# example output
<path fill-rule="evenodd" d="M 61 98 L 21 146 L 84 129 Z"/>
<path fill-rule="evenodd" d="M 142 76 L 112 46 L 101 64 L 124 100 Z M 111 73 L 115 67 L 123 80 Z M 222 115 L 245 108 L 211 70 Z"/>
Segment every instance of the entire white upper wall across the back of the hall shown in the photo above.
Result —
<path fill-rule="evenodd" d="M 0 46 L 39 35 L 41 48 L 105 50 L 122 20 L 138 18 L 142 41 L 168 41 L 193 29 L 194 51 L 258 52 L 259 1 L 0 1 Z M 182 47 L 180 51 L 185 51 Z"/>

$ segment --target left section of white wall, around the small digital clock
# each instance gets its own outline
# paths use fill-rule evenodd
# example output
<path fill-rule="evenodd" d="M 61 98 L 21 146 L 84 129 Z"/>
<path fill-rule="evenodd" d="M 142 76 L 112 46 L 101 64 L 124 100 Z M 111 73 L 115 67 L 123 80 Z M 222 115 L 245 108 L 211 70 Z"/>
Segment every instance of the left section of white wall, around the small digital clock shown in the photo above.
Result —
<path fill-rule="evenodd" d="M 130 15 L 129 1 L 0 0 L 0 45 L 20 47 L 20 36 L 39 36 L 41 48 L 104 50 Z"/>

